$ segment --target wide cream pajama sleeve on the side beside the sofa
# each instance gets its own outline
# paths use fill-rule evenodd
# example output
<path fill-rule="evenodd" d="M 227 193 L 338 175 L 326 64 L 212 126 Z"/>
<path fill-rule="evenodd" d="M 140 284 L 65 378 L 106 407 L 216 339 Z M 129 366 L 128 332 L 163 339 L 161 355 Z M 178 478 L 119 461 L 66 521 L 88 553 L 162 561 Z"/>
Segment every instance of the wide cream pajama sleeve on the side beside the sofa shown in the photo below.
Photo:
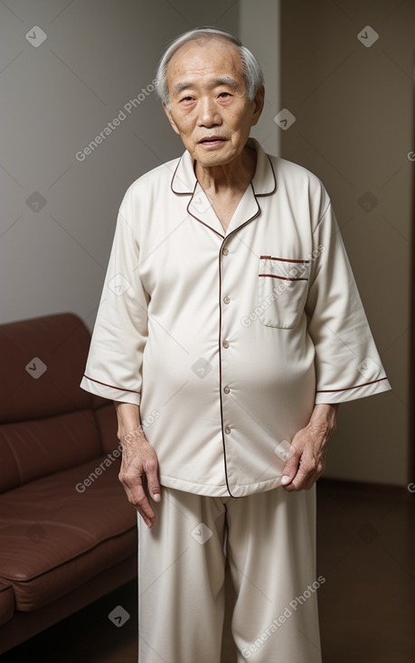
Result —
<path fill-rule="evenodd" d="M 135 221 L 130 187 L 119 208 L 80 387 L 100 397 L 139 405 L 149 297 L 138 276 Z"/>

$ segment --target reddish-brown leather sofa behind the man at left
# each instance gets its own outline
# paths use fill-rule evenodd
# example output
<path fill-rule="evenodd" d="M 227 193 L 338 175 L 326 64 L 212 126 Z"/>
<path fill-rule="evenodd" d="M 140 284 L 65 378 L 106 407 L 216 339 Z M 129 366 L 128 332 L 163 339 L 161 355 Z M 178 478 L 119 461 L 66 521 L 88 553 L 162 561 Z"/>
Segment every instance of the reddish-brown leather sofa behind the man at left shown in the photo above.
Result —
<path fill-rule="evenodd" d="M 0 326 L 0 653 L 137 575 L 114 404 L 79 387 L 90 332 Z"/>

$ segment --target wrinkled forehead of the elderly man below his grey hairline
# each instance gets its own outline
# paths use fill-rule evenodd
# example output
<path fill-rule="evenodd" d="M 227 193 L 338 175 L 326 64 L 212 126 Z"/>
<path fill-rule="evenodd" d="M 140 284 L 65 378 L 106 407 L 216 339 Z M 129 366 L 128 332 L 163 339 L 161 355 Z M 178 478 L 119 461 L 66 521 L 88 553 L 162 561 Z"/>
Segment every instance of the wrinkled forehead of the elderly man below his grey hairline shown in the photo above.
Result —
<path fill-rule="evenodd" d="M 222 37 L 199 37 L 186 42 L 175 51 L 167 67 L 167 81 L 177 77 L 210 70 L 213 74 L 228 71 L 243 78 L 241 55 L 236 44 Z"/>

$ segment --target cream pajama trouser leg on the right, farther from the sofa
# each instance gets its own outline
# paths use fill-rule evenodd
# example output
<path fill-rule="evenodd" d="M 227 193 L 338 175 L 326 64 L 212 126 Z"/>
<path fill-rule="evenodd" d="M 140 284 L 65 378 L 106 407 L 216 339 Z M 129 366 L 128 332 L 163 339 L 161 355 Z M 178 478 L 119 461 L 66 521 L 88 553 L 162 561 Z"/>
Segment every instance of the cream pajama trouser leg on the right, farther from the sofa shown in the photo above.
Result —
<path fill-rule="evenodd" d="M 316 487 L 277 488 L 227 506 L 238 663 L 321 663 Z"/>

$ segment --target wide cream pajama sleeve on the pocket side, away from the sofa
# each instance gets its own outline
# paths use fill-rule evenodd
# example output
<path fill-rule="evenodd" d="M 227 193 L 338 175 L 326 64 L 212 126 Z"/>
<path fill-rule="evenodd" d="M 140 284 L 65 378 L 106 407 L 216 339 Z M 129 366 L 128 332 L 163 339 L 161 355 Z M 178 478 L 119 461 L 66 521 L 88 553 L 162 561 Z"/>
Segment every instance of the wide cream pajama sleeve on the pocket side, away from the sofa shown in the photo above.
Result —
<path fill-rule="evenodd" d="M 313 244 L 306 313 L 316 350 L 316 403 L 342 403 L 390 389 L 326 194 Z"/>

